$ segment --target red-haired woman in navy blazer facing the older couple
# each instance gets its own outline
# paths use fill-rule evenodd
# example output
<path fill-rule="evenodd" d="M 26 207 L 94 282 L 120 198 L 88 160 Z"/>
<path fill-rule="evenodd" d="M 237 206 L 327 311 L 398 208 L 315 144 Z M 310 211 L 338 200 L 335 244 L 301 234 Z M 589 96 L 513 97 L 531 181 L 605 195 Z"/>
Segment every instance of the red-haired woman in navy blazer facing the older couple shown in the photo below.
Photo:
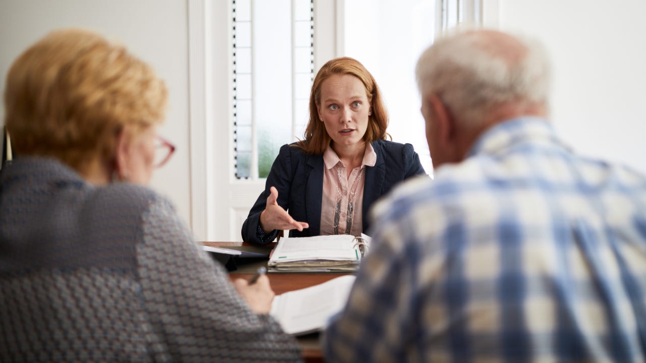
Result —
<path fill-rule="evenodd" d="M 370 72 L 349 57 L 328 61 L 312 85 L 305 140 L 280 148 L 242 239 L 264 244 L 283 229 L 290 236 L 365 232 L 375 200 L 425 174 L 412 145 L 386 141 L 386 127 Z"/>

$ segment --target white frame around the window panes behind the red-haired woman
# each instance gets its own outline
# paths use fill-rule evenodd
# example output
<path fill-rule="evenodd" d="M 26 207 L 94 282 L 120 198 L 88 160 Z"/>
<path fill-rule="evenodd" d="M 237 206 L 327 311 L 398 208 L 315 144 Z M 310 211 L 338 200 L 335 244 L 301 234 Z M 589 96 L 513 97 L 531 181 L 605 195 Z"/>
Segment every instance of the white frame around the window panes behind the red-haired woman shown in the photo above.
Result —
<path fill-rule="evenodd" d="M 342 54 L 345 1 L 351 0 L 314 0 L 315 73 L 326 61 Z M 477 2 L 482 11 L 481 24 L 497 26 L 498 0 L 461 1 Z M 231 229 L 236 213 L 227 203 L 248 200 L 251 196 L 231 189 L 234 178 L 231 1 L 188 0 L 187 6 L 191 227 L 198 240 L 239 240 L 240 231 Z M 264 186 L 258 180 L 236 183 L 255 188 L 256 197 Z M 250 207 L 251 204 L 246 206 L 247 211 Z M 240 218 L 240 211 L 237 214 Z"/>

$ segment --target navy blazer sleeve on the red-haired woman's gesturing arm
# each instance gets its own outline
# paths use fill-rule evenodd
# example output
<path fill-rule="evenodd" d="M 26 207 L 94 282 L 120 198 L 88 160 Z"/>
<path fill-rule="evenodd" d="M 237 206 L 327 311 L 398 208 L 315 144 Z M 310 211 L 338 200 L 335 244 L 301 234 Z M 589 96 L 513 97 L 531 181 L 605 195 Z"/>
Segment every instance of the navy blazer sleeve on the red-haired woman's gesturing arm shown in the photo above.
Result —
<path fill-rule="evenodd" d="M 258 238 L 258 227 L 260 226 L 260 213 L 265 210 L 271 187 L 276 187 L 276 190 L 278 190 L 278 200 L 276 201 L 278 205 L 285 210 L 289 209 L 289 191 L 291 190 L 293 178 L 290 148 L 289 145 L 280 147 L 278 156 L 276 156 L 276 160 L 274 160 L 271 170 L 269 170 L 265 190 L 260 193 L 253 207 L 251 207 L 247 219 L 242 223 L 242 240 L 244 242 L 266 244 L 278 236 L 278 230 L 274 230 L 264 240 L 260 240 Z"/>

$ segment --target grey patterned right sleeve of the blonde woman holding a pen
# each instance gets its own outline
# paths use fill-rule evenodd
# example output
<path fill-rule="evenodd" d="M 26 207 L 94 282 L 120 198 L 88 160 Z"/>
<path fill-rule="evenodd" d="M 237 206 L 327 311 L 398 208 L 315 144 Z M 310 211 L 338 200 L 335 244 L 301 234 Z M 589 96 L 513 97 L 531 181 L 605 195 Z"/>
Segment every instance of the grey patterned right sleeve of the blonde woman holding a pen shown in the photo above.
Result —
<path fill-rule="evenodd" d="M 141 305 L 173 362 L 297 362 L 300 347 L 257 315 L 168 202 L 153 203 L 137 247 Z"/>

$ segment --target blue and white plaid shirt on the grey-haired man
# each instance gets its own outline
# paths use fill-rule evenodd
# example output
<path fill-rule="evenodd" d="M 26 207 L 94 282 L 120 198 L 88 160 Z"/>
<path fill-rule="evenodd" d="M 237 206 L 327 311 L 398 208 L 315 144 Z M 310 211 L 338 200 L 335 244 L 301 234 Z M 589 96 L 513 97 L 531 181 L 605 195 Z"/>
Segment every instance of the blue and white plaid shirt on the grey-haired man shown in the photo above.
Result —
<path fill-rule="evenodd" d="M 646 179 L 574 155 L 542 119 L 372 211 L 330 362 L 644 362 Z"/>

